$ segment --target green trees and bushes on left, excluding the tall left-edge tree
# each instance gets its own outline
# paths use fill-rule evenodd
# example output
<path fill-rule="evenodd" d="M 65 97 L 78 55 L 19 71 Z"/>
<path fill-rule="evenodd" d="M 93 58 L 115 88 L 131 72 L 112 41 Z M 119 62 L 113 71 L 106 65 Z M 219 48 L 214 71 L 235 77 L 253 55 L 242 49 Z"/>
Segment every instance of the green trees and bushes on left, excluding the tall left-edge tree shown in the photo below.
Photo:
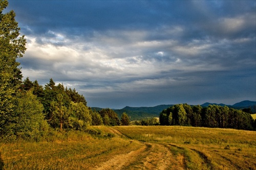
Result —
<path fill-rule="evenodd" d="M 1 108 L 2 138 L 38 140 L 51 129 L 86 131 L 88 126 L 130 125 L 125 112 L 119 120 L 112 109 L 92 110 L 83 95 L 75 89 L 65 88 L 63 84 L 56 85 L 53 79 L 45 86 L 29 78 L 20 80 L 19 84 L 13 97 L 15 105 L 12 111 L 4 112 Z"/>

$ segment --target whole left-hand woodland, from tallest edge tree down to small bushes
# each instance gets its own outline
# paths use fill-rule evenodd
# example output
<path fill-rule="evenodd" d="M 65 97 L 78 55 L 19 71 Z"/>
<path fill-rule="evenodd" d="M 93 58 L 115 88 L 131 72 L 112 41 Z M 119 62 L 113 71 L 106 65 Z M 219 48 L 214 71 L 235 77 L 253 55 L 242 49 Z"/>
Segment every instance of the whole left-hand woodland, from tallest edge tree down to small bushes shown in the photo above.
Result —
<path fill-rule="evenodd" d="M 0 138 L 39 139 L 51 129 L 85 130 L 91 125 L 120 125 L 111 109 L 93 111 L 75 89 L 55 85 L 53 79 L 45 86 L 23 75 L 16 59 L 26 51 L 26 39 L 20 36 L 14 11 L 3 14 L 7 0 L 0 0 Z M 121 125 L 129 125 L 123 113 Z"/>

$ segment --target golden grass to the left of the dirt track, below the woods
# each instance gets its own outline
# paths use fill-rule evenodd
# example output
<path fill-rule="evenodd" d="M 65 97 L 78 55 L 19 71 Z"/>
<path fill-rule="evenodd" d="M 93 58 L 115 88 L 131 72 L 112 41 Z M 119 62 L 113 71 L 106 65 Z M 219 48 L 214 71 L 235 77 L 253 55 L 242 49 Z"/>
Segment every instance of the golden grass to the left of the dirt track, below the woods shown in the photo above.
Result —
<path fill-rule="evenodd" d="M 108 131 L 109 128 L 99 129 Z M 64 135 L 65 138 L 50 142 L 0 143 L 4 169 L 91 169 L 102 160 L 129 153 L 141 145 L 119 136 L 106 137 L 104 132 L 101 136 L 82 132 Z"/>

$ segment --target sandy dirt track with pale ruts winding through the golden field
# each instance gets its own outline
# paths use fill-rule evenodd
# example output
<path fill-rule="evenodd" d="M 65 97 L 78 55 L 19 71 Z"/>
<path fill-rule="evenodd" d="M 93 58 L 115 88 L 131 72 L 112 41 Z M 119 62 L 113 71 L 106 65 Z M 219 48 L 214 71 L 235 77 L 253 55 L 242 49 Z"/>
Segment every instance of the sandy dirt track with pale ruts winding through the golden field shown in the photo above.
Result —
<path fill-rule="evenodd" d="M 118 130 L 111 128 L 116 135 L 126 137 Z M 116 155 L 102 162 L 94 169 L 186 169 L 183 155 L 173 155 L 168 145 L 144 143 L 141 148 L 127 154 Z"/>

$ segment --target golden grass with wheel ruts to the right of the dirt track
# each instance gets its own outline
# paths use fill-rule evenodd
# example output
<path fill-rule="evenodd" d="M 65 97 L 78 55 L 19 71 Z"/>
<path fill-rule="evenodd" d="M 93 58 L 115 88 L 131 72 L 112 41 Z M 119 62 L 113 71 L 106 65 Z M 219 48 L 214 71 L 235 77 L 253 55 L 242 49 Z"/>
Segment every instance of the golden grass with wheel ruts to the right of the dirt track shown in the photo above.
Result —
<path fill-rule="evenodd" d="M 189 169 L 256 169 L 255 131 L 179 126 L 115 129 L 139 141 L 172 147 L 185 156 Z"/>

